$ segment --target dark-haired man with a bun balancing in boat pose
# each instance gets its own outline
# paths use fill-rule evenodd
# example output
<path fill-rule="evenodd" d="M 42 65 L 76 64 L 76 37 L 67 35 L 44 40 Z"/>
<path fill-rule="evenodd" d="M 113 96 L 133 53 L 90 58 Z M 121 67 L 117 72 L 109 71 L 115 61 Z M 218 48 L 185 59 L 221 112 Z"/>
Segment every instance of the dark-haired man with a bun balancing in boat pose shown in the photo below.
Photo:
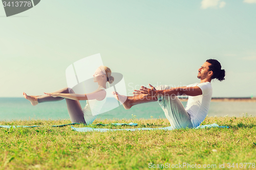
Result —
<path fill-rule="evenodd" d="M 156 88 L 141 86 L 140 90 L 134 90 L 135 96 L 124 96 L 113 92 L 115 98 L 123 103 L 125 109 L 132 106 L 158 101 L 166 118 L 173 129 L 195 128 L 205 119 L 212 95 L 211 80 L 225 80 L 225 70 L 215 59 L 206 60 L 198 69 L 200 83 L 190 84 L 184 87 L 171 88 L 167 85 L 160 85 Z M 177 95 L 188 95 L 187 105 L 184 108 Z"/>

